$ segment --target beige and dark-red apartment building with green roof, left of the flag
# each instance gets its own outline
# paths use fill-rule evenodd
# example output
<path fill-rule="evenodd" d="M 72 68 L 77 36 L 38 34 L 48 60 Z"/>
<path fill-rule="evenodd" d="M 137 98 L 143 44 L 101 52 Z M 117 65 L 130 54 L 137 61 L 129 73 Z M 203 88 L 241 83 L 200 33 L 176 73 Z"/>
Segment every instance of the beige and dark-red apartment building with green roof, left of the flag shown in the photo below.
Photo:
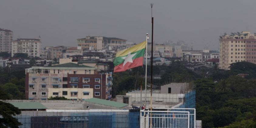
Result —
<path fill-rule="evenodd" d="M 112 74 L 97 74 L 97 68 L 72 62 L 32 67 L 26 69 L 25 95 L 29 100 L 46 100 L 51 96 L 107 99 L 111 98 L 111 77 Z"/>

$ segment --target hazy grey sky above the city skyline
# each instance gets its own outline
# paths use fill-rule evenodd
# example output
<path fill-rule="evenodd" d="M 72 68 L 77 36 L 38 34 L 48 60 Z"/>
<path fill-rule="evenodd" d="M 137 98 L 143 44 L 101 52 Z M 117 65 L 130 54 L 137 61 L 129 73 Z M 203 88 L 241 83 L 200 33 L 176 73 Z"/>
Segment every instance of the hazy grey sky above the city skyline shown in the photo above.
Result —
<path fill-rule="evenodd" d="M 138 43 L 151 36 L 150 3 L 156 43 L 218 50 L 224 32 L 256 32 L 255 0 L 0 0 L 0 27 L 15 38 L 40 35 L 43 46 L 77 46 L 87 35 Z"/>

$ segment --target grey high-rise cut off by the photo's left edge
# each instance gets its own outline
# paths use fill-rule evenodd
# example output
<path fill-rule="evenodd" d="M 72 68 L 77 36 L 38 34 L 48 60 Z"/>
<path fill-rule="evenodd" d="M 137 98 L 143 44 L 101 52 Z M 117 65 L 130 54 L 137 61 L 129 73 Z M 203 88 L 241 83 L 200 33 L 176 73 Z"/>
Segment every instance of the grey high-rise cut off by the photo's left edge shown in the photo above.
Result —
<path fill-rule="evenodd" d="M 11 30 L 0 28 L 0 52 L 11 53 L 12 37 L 13 32 Z"/>

